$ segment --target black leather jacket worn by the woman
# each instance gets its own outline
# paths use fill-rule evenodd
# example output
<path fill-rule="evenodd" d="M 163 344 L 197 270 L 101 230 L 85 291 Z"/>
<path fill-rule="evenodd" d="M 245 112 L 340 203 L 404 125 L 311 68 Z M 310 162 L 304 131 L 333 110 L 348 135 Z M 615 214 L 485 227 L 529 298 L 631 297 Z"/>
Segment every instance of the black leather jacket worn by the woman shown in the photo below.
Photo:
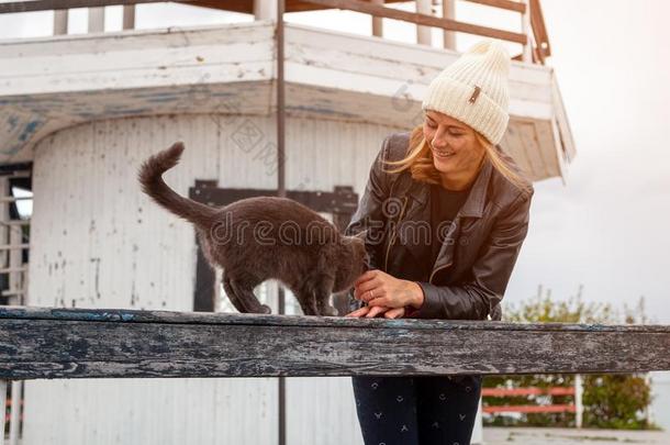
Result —
<path fill-rule="evenodd" d="M 429 221 L 431 187 L 414 180 L 409 170 L 382 170 L 381 160 L 403 158 L 409 142 L 409 132 L 386 137 L 345 234 L 368 231 L 371 268 L 402 279 L 414 275 L 412 280 L 422 287 L 425 299 L 406 318 L 485 320 L 490 315 L 500 320 L 500 301 L 528 230 L 532 183 L 527 182 L 529 193 L 522 192 L 485 158 L 466 202 L 440 240 L 435 264 L 426 264 L 429 248 L 416 242 L 412 229 L 418 221 Z M 503 157 L 515 167 L 509 156 Z M 429 271 L 418 279 L 409 274 L 416 270 L 417 263 Z M 349 291 L 350 310 L 362 304 L 353 293 Z"/>

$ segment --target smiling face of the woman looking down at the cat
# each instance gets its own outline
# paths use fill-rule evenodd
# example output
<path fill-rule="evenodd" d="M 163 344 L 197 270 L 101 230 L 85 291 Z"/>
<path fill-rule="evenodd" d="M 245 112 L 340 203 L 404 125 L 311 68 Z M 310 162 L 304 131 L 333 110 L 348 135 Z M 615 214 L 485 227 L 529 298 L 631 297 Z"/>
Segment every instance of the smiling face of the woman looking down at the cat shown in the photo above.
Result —
<path fill-rule="evenodd" d="M 474 130 L 447 114 L 426 110 L 423 133 L 443 185 L 453 189 L 467 186 L 479 171 L 485 151 Z"/>

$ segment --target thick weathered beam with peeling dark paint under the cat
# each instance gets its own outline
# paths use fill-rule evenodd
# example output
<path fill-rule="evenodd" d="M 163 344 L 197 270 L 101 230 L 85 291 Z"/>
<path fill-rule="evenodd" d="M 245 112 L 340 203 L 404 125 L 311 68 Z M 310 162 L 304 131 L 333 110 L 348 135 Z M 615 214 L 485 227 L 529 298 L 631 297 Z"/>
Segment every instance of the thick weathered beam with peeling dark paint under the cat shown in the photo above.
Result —
<path fill-rule="evenodd" d="M 0 379 L 670 370 L 670 326 L 0 308 Z"/>

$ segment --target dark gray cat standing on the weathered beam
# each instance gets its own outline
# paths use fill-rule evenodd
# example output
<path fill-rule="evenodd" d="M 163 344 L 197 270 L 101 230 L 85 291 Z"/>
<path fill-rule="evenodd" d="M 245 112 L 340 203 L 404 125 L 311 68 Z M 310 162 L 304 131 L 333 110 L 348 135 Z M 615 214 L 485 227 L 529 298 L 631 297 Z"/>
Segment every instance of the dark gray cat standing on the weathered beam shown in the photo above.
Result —
<path fill-rule="evenodd" d="M 293 292 L 305 315 L 337 315 L 331 293 L 349 289 L 369 264 L 365 232 L 344 236 L 319 213 L 287 198 L 248 198 L 222 208 L 183 198 L 161 178 L 182 152 L 178 142 L 145 160 L 138 170 L 142 190 L 194 224 L 205 258 L 223 268 L 223 287 L 235 308 L 270 313 L 254 288 L 273 278 Z"/>

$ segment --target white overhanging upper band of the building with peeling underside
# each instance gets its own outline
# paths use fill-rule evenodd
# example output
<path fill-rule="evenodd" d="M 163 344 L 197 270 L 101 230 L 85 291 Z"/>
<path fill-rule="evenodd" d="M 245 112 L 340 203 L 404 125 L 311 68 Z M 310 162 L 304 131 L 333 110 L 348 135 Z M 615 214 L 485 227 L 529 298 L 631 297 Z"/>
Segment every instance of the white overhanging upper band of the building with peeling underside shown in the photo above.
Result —
<path fill-rule="evenodd" d="M 0 160 L 30 160 L 45 135 L 90 121 L 269 113 L 275 46 L 271 21 L 0 41 Z M 458 56 L 287 24 L 287 113 L 411 129 L 429 81 Z M 573 144 L 555 71 L 512 62 L 510 94 L 502 146 L 532 179 L 561 176 Z"/>

